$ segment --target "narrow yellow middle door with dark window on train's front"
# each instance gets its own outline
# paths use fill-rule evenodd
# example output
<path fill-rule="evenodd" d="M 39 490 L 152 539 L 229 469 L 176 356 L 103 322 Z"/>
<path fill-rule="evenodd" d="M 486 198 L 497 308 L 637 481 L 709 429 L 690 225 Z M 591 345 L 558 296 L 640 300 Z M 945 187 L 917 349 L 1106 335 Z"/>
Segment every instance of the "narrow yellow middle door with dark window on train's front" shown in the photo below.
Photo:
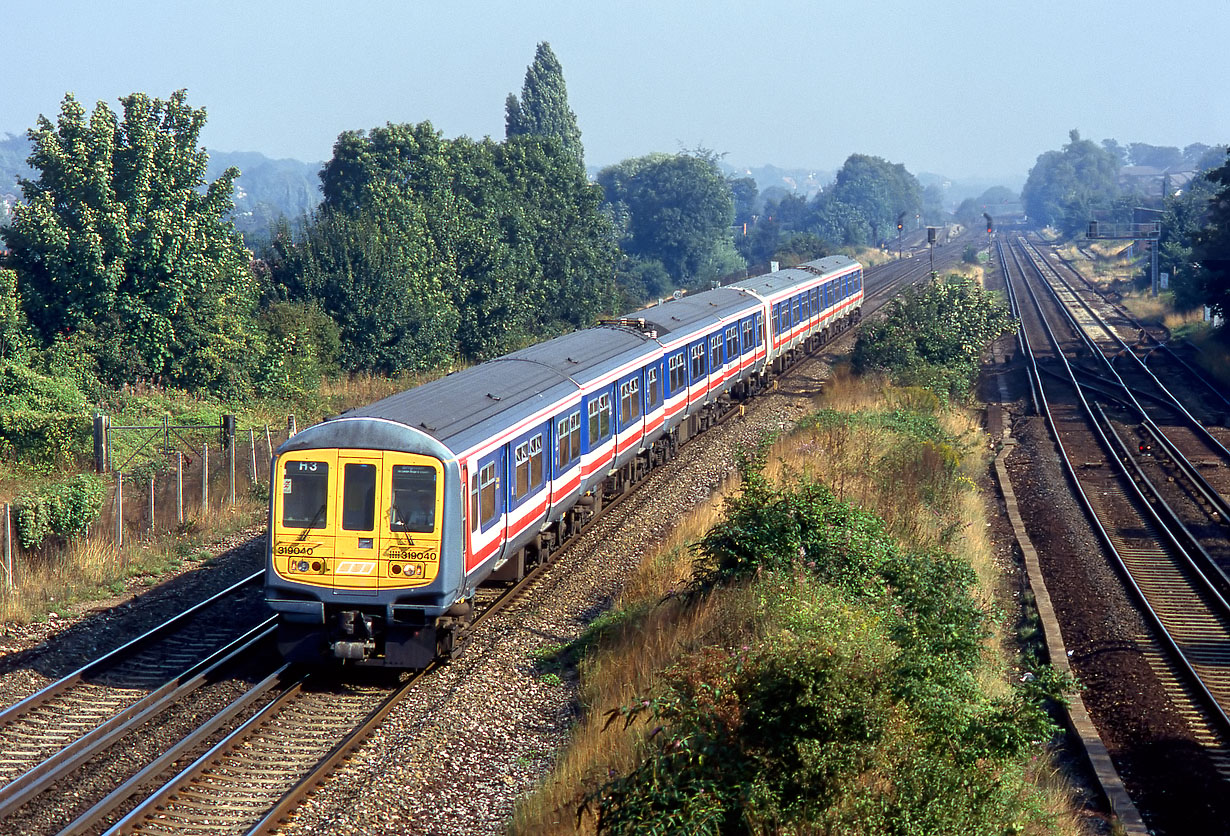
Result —
<path fill-rule="evenodd" d="M 380 497 L 380 454 L 339 452 L 333 508 L 333 589 L 375 595 L 380 586 L 380 543 L 376 509 Z"/>

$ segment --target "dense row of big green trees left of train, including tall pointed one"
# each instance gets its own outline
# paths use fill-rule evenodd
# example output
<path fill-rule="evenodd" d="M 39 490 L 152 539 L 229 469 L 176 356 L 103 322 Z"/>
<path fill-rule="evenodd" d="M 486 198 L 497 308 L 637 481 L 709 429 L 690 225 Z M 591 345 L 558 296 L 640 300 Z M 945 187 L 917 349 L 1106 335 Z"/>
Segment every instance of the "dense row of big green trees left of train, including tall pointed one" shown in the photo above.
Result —
<path fill-rule="evenodd" d="M 239 171 L 205 178 L 205 112 L 183 91 L 118 113 L 66 96 L 30 132 L 33 176 L 0 230 L 0 361 L 91 395 L 149 381 L 234 398 L 589 325 L 616 305 L 617 245 L 579 132 L 535 133 L 544 108 L 574 124 L 546 44 L 514 103 L 502 143 L 426 122 L 343 133 L 319 209 L 252 253 L 231 223 Z"/>

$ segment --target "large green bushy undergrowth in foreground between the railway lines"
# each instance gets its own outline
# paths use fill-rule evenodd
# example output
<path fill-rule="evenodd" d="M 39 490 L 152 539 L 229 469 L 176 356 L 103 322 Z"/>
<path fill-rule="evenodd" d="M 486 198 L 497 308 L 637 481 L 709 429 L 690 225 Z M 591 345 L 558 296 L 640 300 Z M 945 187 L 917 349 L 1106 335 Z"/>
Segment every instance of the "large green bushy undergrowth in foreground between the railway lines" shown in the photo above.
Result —
<path fill-rule="evenodd" d="M 608 714 L 645 723 L 641 760 L 583 809 L 611 834 L 1004 834 L 1037 815 L 1020 761 L 1070 682 L 978 684 L 973 570 L 908 552 L 873 515 L 753 466 L 702 543 L 706 578 L 760 596 L 763 638 L 684 657 Z"/>

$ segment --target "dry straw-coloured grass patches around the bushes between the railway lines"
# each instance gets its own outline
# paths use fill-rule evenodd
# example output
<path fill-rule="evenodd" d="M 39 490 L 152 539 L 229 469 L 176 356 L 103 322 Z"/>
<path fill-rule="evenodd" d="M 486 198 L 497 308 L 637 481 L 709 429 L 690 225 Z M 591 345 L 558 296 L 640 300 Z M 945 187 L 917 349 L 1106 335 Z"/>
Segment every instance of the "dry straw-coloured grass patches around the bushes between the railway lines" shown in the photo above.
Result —
<path fill-rule="evenodd" d="M 878 380 L 838 373 L 825 385 L 818 406 L 859 413 L 937 404 L 929 393 L 893 390 Z M 980 435 L 977 414 L 946 411 L 940 413 L 940 420 L 948 434 L 964 441 L 957 478 L 959 489 L 945 514 L 907 502 L 926 481 L 925 475 L 877 476 L 872 462 L 895 441 L 886 430 L 856 420 L 834 422 L 823 429 L 800 430 L 782 438 L 768 454 L 765 475 L 779 482 L 798 475 L 824 481 L 839 497 L 876 510 L 891 530 L 915 545 L 943 542 L 967 556 L 978 575 L 977 599 L 993 612 L 996 601 L 1002 600 L 1005 579 L 994 559 L 986 507 L 973 478 L 985 472 L 988 445 Z M 925 460 L 920 461 L 925 465 Z M 593 816 L 578 820 L 579 805 L 608 776 L 626 775 L 635 766 L 643 735 L 638 727 L 626 734 L 619 733 L 619 720 L 604 729 L 605 713 L 652 693 L 661 672 L 691 649 L 754 641 L 750 631 L 755 629 L 753 625 L 763 623 L 763 617 L 755 612 L 752 588 L 726 590 L 721 606 L 715 604 L 716 597 L 684 605 L 672 596 L 690 578 L 690 545 L 721 519 L 717 500 L 734 489 L 737 486 L 728 486 L 713 503 L 689 514 L 669 541 L 652 552 L 630 579 L 614 610 L 626 617 L 611 620 L 614 627 L 603 631 L 603 650 L 590 653 L 581 663 L 584 713 L 574 727 L 573 738 L 539 792 L 518 805 L 510 832 L 594 832 Z M 999 641 L 988 643 L 980 677 L 991 692 L 1007 690 L 1007 663 L 998 650 L 1007 645 L 1005 633 L 1005 627 L 1000 626 Z M 1044 759 L 1038 761 L 1034 777 L 1038 786 L 1047 788 L 1050 811 L 1064 822 L 1060 832 L 1079 834 L 1081 829 L 1070 813 L 1071 792 L 1063 777 Z"/>

